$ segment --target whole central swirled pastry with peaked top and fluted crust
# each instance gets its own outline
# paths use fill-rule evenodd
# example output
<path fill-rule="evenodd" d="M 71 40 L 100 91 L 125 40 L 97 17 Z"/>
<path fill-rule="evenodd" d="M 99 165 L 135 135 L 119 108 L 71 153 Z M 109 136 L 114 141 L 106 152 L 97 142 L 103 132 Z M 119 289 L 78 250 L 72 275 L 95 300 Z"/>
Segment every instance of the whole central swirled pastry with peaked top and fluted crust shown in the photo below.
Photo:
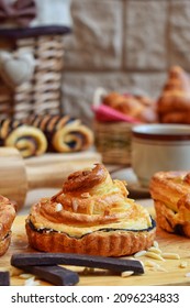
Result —
<path fill-rule="evenodd" d="M 32 206 L 29 242 L 40 251 L 104 256 L 146 250 L 155 239 L 155 221 L 127 195 L 125 184 L 112 180 L 101 164 L 76 172 L 55 196 Z"/>

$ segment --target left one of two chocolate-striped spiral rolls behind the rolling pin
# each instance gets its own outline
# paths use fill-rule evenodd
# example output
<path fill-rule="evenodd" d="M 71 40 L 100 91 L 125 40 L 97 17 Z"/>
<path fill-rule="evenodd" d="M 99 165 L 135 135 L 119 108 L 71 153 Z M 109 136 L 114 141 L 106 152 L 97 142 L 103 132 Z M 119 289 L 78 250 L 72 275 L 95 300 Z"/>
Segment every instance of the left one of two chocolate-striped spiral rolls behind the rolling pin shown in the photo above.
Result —
<path fill-rule="evenodd" d="M 16 147 L 23 157 L 44 154 L 47 148 L 47 140 L 40 129 L 14 119 L 0 121 L 0 143 Z"/>

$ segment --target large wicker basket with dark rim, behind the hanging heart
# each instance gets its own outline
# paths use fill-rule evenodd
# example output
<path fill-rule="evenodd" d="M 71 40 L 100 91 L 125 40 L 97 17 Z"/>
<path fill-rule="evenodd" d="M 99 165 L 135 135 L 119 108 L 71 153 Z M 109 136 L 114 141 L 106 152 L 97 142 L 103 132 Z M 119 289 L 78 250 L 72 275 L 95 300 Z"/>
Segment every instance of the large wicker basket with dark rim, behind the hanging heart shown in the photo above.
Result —
<path fill-rule="evenodd" d="M 63 36 L 69 32 L 66 26 L 0 30 L 0 51 L 8 51 L 13 56 L 29 52 L 35 61 L 32 78 L 14 88 L 0 77 L 0 119 L 62 111 Z"/>

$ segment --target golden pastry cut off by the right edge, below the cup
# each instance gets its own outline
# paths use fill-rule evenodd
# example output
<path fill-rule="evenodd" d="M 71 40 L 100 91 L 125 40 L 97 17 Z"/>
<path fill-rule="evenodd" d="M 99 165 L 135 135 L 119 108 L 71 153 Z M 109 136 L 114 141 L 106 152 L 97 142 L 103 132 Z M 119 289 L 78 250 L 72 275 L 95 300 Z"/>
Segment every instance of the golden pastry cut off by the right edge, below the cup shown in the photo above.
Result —
<path fill-rule="evenodd" d="M 158 172 L 150 180 L 157 224 L 190 238 L 190 173 Z"/>

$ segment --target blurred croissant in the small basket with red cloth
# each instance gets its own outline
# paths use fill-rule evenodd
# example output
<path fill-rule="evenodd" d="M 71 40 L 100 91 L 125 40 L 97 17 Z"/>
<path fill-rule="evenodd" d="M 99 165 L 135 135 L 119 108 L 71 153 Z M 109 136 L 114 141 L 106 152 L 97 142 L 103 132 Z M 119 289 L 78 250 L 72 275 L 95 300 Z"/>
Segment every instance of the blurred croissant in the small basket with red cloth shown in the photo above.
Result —
<path fill-rule="evenodd" d="M 152 123 L 157 121 L 156 106 L 148 97 L 111 92 L 103 98 L 102 103 L 141 122 Z"/>

